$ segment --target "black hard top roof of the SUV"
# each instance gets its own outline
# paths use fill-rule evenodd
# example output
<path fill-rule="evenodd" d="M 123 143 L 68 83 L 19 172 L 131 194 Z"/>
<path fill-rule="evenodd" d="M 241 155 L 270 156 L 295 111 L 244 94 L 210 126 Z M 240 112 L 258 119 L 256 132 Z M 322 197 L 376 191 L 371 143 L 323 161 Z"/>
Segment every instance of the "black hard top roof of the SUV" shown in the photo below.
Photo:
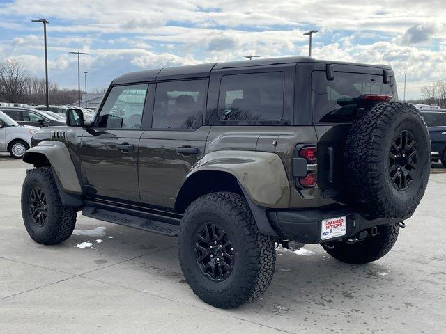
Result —
<path fill-rule="evenodd" d="M 179 67 L 166 67 L 156 70 L 144 70 L 138 72 L 129 72 L 117 77 L 112 81 L 112 84 L 132 84 L 137 82 L 148 82 L 155 80 L 171 80 L 171 79 L 186 79 L 191 77 L 209 77 L 211 70 L 221 70 L 224 68 L 236 67 L 254 67 L 264 65 L 278 65 L 289 63 L 329 63 L 329 64 L 344 64 L 344 65 L 361 65 L 367 67 L 381 67 L 390 70 L 387 65 L 368 65 L 360 63 L 346 63 L 340 61 L 323 61 L 312 57 L 280 57 L 280 58 L 261 58 L 252 61 L 229 61 L 225 63 L 207 63 L 199 65 L 185 65 Z"/>

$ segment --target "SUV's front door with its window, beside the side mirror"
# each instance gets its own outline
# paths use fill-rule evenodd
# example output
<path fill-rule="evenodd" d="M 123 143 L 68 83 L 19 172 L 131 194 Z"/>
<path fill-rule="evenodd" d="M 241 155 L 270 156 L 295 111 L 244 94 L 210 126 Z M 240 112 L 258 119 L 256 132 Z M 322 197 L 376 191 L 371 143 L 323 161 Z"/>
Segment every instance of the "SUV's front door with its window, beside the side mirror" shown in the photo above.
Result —
<path fill-rule="evenodd" d="M 112 87 L 93 127 L 82 136 L 82 183 L 88 196 L 141 202 L 138 150 L 148 87 Z"/>

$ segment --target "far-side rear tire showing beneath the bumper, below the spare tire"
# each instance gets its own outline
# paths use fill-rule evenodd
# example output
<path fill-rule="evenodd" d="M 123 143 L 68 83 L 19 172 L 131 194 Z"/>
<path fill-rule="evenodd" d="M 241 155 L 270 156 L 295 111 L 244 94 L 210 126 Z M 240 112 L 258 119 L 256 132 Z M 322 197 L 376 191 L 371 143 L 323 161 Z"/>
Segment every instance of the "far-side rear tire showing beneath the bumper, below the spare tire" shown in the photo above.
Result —
<path fill-rule="evenodd" d="M 366 264 L 383 257 L 397 242 L 399 225 L 380 225 L 378 234 L 355 244 L 346 241 L 322 244 L 325 251 L 335 259 L 350 264 Z"/>

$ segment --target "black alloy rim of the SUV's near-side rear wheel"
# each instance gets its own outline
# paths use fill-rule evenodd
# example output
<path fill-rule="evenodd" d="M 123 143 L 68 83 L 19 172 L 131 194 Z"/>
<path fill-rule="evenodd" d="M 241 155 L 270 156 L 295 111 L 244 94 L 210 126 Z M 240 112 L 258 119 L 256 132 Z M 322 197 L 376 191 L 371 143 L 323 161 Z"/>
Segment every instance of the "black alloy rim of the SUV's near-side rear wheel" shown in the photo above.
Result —
<path fill-rule="evenodd" d="M 234 248 L 226 231 L 217 223 L 197 230 L 194 244 L 197 264 L 206 278 L 220 282 L 228 278 L 234 264 Z"/>

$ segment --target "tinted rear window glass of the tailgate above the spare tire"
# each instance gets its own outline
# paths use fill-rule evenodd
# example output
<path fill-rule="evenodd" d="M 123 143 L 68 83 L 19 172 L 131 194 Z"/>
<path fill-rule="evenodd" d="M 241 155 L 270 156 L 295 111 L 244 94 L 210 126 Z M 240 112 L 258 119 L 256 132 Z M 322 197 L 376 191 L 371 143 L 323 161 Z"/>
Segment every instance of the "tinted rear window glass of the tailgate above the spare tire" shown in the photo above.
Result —
<path fill-rule="evenodd" d="M 325 71 L 312 73 L 313 120 L 318 122 L 351 122 L 356 118 L 358 99 L 364 94 L 392 95 L 395 99 L 394 78 L 383 83 L 381 75 L 334 72 L 327 80 Z"/>

